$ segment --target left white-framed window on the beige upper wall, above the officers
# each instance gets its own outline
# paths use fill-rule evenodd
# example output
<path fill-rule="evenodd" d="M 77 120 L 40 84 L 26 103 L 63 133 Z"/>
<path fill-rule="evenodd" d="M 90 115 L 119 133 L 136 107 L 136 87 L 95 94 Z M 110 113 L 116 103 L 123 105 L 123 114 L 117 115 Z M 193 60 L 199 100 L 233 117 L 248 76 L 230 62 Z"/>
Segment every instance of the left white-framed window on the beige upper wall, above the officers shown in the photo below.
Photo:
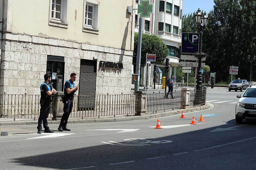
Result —
<path fill-rule="evenodd" d="M 50 0 L 49 25 L 68 28 L 68 0 Z"/>

